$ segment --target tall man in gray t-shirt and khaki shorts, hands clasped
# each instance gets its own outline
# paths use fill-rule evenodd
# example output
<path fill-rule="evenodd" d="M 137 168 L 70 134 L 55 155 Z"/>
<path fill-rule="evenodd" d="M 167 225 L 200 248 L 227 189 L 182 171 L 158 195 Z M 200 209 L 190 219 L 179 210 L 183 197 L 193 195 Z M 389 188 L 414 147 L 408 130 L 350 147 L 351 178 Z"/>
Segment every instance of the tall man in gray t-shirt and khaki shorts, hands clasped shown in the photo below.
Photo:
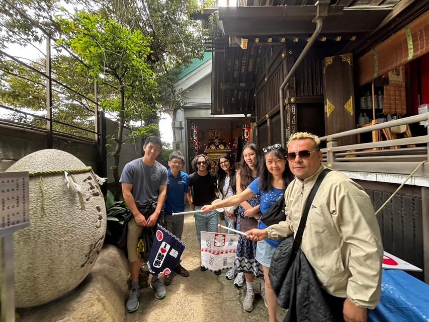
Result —
<path fill-rule="evenodd" d="M 139 272 L 141 259 L 137 256 L 138 238 L 143 227 L 153 227 L 158 221 L 167 192 L 168 177 L 167 169 L 156 161 L 161 152 L 162 142 L 157 136 L 150 136 L 143 145 L 144 156 L 127 163 L 122 171 L 121 179 L 122 195 L 128 209 L 132 212 L 128 222 L 127 251 L 130 262 L 131 291 L 126 302 L 128 312 L 137 310 L 140 304 Z M 156 204 L 154 212 L 145 217 L 140 213 L 138 207 L 147 205 L 149 201 Z M 158 279 L 152 276 L 150 286 L 155 292 L 157 299 L 165 297 L 165 287 Z"/>

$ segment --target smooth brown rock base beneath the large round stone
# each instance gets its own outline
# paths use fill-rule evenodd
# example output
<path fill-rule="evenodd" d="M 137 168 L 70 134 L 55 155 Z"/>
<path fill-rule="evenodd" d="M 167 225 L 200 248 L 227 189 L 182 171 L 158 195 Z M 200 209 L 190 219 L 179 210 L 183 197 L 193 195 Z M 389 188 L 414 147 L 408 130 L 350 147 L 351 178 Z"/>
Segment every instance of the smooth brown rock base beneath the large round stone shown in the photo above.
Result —
<path fill-rule="evenodd" d="M 125 319 L 128 275 L 124 253 L 112 245 L 105 245 L 90 274 L 78 287 L 46 305 L 17 309 L 18 321 L 122 322 Z"/>

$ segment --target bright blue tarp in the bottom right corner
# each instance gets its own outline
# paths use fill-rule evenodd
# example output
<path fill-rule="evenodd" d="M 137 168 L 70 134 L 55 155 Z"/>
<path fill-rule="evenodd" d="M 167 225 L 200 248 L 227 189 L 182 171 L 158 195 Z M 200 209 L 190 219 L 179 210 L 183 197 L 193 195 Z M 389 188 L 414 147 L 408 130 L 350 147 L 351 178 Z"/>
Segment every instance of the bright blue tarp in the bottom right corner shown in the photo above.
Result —
<path fill-rule="evenodd" d="M 429 285 L 397 270 L 383 270 L 381 299 L 371 322 L 428 322 Z"/>

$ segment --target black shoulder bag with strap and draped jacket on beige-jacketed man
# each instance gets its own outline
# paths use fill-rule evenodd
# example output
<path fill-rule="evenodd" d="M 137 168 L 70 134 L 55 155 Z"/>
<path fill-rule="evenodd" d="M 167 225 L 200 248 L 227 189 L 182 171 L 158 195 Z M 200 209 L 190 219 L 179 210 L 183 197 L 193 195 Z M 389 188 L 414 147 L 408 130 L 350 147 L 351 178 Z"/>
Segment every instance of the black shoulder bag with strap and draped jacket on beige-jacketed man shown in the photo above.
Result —
<path fill-rule="evenodd" d="M 324 169 L 317 177 L 305 204 L 295 238 L 292 235 L 282 241 L 271 260 L 269 272 L 271 285 L 278 304 L 288 309 L 284 321 L 335 321 L 313 268 L 300 249 L 308 211 L 321 182 L 329 171 Z"/>

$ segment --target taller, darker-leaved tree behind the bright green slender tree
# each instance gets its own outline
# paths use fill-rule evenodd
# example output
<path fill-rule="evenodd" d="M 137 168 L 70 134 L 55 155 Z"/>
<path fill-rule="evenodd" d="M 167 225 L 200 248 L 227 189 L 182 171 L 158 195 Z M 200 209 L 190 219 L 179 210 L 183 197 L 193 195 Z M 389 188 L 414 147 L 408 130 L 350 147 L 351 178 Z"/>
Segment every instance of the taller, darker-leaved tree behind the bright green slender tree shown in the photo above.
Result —
<path fill-rule="evenodd" d="M 138 29 L 150 38 L 152 52 L 148 62 L 155 72 L 158 95 L 147 101 L 152 113 L 144 124 L 158 124 L 161 112 L 181 106 L 185 98 L 174 88 L 180 68 L 192 59 L 202 58 L 201 23 L 189 18 L 199 10 L 197 0 L 82 0 L 86 7 L 97 8 L 105 17 L 115 17 L 123 26 Z M 161 106 L 166 110 L 161 110 Z M 155 132 L 159 135 L 159 132 Z"/>

